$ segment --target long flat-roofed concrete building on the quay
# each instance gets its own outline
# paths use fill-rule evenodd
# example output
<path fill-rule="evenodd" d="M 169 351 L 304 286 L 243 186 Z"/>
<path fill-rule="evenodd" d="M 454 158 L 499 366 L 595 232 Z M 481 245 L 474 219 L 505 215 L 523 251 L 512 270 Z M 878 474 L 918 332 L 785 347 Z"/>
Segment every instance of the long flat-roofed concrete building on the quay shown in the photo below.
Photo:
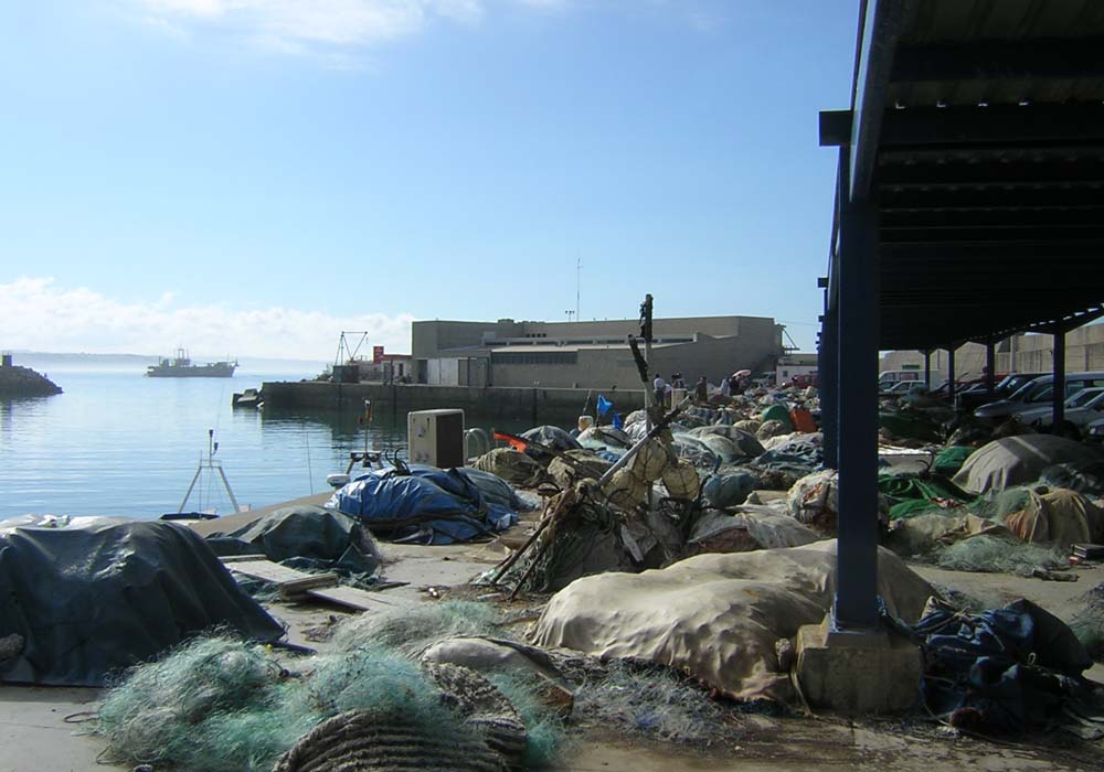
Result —
<path fill-rule="evenodd" d="M 783 325 L 764 317 L 690 317 L 652 323 L 651 369 L 718 384 L 737 369 L 773 369 Z M 418 383 L 439 386 L 640 388 L 628 346 L 635 319 L 602 322 L 414 322 Z"/>

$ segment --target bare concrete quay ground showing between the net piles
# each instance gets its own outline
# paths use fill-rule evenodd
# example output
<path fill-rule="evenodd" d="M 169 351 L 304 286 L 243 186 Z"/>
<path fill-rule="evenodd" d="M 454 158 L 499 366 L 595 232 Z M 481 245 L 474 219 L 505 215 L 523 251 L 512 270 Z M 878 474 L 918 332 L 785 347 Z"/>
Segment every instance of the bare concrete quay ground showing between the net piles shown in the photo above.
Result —
<path fill-rule="evenodd" d="M 384 549 L 386 578 L 408 582 L 383 592 L 383 598 L 395 603 L 432 602 L 435 596 L 447 597 L 450 587 L 486 571 L 506 553 L 500 545 L 386 545 Z M 994 604 L 1028 598 L 1065 620 L 1079 608 L 1075 599 L 1104 581 L 1104 568 L 1076 569 L 1081 577 L 1078 582 L 963 573 L 923 565 L 913 568 L 928 581 Z M 275 605 L 272 610 L 288 626 L 293 643 L 310 646 L 319 645 L 312 641 L 315 629 L 348 615 L 341 609 L 318 605 Z M 1096 664 L 1087 675 L 1104 682 L 1104 666 Z M 95 709 L 97 697 L 95 689 L 0 686 L 0 772 L 129 769 L 100 762 L 103 743 L 81 735 L 87 725 L 75 722 Z M 1104 769 L 1104 746 L 1078 744 L 1062 735 L 995 742 L 946 733 L 938 725 L 915 718 L 849 721 L 835 717 L 740 715 L 735 720 L 739 725 L 735 744 L 712 749 L 647 743 L 591 730 L 575 738 L 560 769 L 602 772 Z"/>

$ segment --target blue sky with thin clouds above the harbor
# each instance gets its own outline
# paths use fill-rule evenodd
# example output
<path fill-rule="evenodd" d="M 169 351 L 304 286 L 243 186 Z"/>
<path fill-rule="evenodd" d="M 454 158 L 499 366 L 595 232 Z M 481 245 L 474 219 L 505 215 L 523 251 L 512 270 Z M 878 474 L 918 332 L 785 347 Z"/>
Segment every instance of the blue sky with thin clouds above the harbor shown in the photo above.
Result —
<path fill-rule="evenodd" d="M 411 319 L 815 336 L 857 0 L 0 10 L 4 347 L 326 358 Z"/>

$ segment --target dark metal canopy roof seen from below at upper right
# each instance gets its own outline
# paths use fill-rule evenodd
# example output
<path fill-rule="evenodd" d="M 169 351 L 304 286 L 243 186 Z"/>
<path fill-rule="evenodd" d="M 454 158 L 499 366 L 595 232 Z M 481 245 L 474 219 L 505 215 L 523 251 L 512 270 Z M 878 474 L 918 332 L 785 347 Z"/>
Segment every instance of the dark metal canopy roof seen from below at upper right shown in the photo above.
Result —
<path fill-rule="evenodd" d="M 867 0 L 820 135 L 877 204 L 882 349 L 1104 314 L 1104 2 Z"/>

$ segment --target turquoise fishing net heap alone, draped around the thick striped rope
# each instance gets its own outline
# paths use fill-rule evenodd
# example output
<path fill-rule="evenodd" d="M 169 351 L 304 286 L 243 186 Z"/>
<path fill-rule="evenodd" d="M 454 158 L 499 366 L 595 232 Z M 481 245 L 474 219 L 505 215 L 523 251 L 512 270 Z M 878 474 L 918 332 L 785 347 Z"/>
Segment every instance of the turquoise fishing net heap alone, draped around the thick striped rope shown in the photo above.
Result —
<path fill-rule="evenodd" d="M 333 651 L 301 658 L 229 635 L 197 639 L 127 672 L 108 691 L 96 731 L 117 761 L 210 772 L 309 769 L 325 737 L 353 729 L 379 755 L 357 769 L 543 765 L 561 733 L 551 718 L 521 721 L 500 697 L 498 719 L 489 720 L 443 683 L 448 674 L 418 663 L 427 642 L 485 632 L 497 620 L 476 603 L 364 614 L 339 630 Z M 459 677 L 470 694 L 471 679 Z M 511 725 L 516 758 L 496 750 Z M 463 753 L 454 758 L 449 748 Z M 386 765 L 389 753 L 406 765 Z"/>

